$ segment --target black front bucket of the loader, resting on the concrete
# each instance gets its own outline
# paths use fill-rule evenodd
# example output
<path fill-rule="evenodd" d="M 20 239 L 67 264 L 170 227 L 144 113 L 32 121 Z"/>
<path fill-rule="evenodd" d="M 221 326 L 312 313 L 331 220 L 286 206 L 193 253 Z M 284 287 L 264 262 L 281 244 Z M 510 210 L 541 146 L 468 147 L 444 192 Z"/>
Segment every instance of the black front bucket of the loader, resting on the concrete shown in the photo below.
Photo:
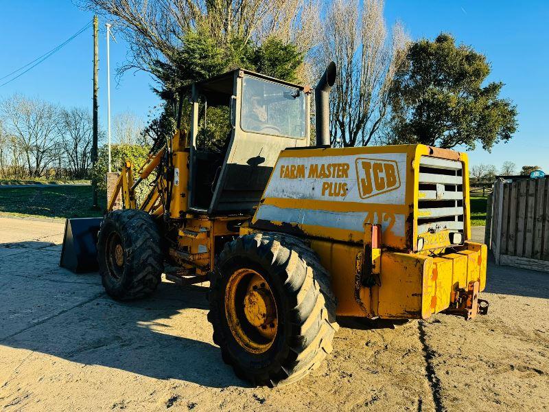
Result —
<path fill-rule="evenodd" d="M 67 219 L 59 266 L 74 273 L 97 271 L 97 233 L 102 220 Z"/>

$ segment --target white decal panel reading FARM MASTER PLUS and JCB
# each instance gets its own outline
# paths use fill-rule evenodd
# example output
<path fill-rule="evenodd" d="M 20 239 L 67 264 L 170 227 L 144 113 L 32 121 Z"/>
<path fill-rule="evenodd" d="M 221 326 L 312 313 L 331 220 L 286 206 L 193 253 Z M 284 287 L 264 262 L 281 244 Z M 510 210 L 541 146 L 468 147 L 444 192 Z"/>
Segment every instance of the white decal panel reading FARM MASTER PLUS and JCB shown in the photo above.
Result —
<path fill-rule="evenodd" d="M 404 205 L 406 153 L 281 157 L 264 197 Z"/>

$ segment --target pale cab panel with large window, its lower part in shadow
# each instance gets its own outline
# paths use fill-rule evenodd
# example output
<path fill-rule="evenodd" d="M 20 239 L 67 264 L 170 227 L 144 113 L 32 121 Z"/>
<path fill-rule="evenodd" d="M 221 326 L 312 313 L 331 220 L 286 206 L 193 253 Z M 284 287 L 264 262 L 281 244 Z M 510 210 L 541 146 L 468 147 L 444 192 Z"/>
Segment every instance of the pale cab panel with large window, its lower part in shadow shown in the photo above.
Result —
<path fill-rule="evenodd" d="M 309 145 L 309 94 L 302 87 L 241 70 L 235 89 L 233 136 L 209 214 L 249 213 L 259 203 L 281 150 Z"/>

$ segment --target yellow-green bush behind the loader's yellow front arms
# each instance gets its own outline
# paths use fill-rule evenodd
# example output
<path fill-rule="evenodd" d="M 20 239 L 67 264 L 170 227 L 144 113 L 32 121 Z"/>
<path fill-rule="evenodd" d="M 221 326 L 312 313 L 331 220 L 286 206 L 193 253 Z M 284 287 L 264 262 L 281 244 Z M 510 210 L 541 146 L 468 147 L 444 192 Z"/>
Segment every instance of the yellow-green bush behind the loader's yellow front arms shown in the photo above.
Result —
<path fill-rule="evenodd" d="M 137 172 L 139 168 L 147 161 L 149 154 L 149 146 L 129 145 L 129 144 L 113 144 L 110 145 L 110 165 L 113 172 L 120 172 L 121 166 L 124 161 L 129 160 L 134 165 L 134 171 Z M 106 193 L 106 172 L 108 171 L 108 146 L 104 145 L 99 148 L 97 152 L 97 164 L 91 168 L 91 181 L 97 183 L 97 190 L 102 193 Z M 149 183 L 151 183 L 156 174 L 152 174 L 145 179 L 137 189 L 135 190 L 135 198 L 137 205 L 141 204 L 141 201 L 150 192 Z M 137 179 L 137 176 L 134 176 Z"/>

